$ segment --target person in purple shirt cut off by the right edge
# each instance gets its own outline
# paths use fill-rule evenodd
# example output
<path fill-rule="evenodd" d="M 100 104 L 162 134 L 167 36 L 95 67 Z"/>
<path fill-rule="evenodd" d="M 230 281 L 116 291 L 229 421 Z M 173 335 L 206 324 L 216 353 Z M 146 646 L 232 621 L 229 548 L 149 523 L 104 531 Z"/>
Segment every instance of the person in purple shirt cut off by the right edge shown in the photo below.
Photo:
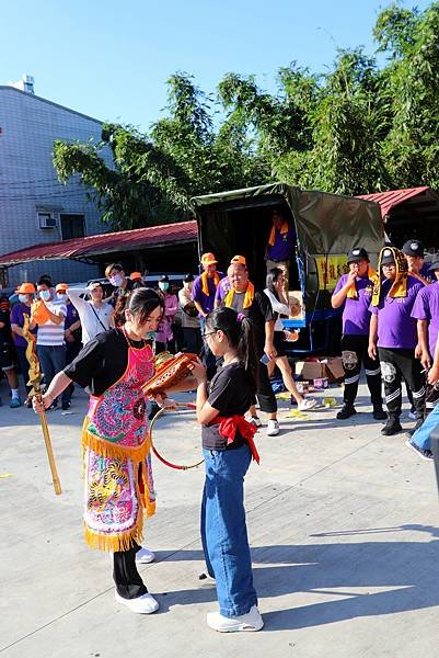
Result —
<path fill-rule="evenodd" d="M 419 291 L 412 310 L 412 317 L 417 320 L 420 363 L 428 371 L 435 359 L 436 343 L 439 334 L 439 260 L 429 266 L 436 282 Z M 427 383 L 425 397 L 425 416 L 439 402 L 439 390 Z"/>

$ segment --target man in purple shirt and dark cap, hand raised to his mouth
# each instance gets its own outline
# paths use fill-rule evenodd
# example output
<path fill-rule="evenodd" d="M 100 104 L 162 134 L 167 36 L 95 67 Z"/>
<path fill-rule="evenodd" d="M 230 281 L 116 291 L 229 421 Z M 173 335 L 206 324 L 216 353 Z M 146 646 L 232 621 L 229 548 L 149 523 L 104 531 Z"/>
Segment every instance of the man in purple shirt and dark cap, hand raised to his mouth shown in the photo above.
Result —
<path fill-rule="evenodd" d="M 333 308 L 343 307 L 342 360 L 345 370 L 344 406 L 337 418 L 345 420 L 357 411 L 355 399 L 358 393 L 361 363 L 365 365 L 373 418 L 385 420 L 382 408 L 380 364 L 368 354 L 370 302 L 373 281 L 366 249 L 355 248 L 348 253 L 349 273 L 343 274 L 335 286 L 331 303 Z"/>

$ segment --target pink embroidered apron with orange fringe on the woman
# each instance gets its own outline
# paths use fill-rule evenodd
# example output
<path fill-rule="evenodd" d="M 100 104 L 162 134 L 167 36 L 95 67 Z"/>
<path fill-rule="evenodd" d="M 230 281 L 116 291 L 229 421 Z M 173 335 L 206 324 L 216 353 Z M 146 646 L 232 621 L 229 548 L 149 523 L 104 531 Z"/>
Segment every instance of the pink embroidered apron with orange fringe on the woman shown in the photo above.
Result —
<path fill-rule="evenodd" d="M 85 541 L 101 551 L 128 551 L 142 538 L 143 511 L 152 515 L 152 480 L 146 401 L 140 386 L 153 374 L 150 345 L 132 348 L 122 377 L 91 396 L 84 420 Z"/>

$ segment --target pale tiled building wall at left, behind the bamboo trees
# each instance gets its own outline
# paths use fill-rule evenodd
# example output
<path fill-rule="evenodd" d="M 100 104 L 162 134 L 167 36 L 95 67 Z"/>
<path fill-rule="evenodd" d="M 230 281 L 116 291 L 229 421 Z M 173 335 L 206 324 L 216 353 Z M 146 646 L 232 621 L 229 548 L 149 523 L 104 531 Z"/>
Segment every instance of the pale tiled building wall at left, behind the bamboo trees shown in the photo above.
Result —
<path fill-rule="evenodd" d="M 99 121 L 0 86 L 0 254 L 61 240 L 62 213 L 83 215 L 85 235 L 105 230 L 85 188 L 78 180 L 59 183 L 53 164 L 55 139 L 99 141 Z M 109 152 L 107 157 L 111 161 Z M 51 213 L 57 227 L 39 228 L 38 212 Z M 9 269 L 9 285 L 34 281 L 42 273 L 50 274 L 54 281 L 76 282 L 95 276 L 97 268 L 68 260 L 23 263 Z"/>

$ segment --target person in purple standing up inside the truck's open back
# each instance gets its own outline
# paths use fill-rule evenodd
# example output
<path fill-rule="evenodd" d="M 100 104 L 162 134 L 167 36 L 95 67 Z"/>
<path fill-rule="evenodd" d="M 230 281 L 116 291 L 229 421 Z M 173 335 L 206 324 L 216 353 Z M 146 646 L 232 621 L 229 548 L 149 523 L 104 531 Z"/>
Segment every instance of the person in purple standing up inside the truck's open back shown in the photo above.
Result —
<path fill-rule="evenodd" d="M 285 293 L 288 295 L 290 280 L 290 263 L 296 247 L 296 230 L 282 211 L 272 213 L 272 229 L 267 240 L 266 257 L 267 274 L 273 268 L 279 268 L 285 277 Z"/>

